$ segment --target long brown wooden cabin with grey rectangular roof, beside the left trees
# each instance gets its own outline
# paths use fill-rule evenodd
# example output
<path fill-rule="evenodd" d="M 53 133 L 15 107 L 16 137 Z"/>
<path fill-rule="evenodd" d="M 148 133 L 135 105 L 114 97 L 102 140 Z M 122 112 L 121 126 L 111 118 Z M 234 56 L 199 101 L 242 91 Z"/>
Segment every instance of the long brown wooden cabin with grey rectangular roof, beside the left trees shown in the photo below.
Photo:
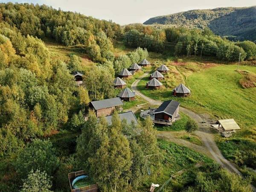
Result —
<path fill-rule="evenodd" d="M 122 111 L 122 105 L 124 103 L 119 97 L 89 103 L 89 107 L 95 111 L 97 117 L 111 115 L 115 110 Z"/>

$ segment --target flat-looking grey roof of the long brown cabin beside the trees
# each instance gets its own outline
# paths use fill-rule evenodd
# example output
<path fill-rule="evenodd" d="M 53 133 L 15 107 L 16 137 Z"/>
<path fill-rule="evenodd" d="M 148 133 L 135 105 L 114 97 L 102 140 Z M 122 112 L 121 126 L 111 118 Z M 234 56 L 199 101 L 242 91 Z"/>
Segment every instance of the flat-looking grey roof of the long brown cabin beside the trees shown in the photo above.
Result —
<path fill-rule="evenodd" d="M 124 105 L 119 97 L 90 102 L 96 110 Z"/>

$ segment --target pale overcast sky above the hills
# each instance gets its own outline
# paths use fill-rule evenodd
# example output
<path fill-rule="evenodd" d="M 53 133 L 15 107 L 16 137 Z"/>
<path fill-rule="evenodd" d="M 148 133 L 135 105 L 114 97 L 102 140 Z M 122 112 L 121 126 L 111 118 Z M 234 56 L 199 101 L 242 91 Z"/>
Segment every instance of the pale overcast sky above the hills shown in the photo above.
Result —
<path fill-rule="evenodd" d="M 151 17 L 192 9 L 256 6 L 256 0 L 0 0 L 0 2 L 38 3 L 64 11 L 79 12 L 121 25 L 143 23 Z"/>

